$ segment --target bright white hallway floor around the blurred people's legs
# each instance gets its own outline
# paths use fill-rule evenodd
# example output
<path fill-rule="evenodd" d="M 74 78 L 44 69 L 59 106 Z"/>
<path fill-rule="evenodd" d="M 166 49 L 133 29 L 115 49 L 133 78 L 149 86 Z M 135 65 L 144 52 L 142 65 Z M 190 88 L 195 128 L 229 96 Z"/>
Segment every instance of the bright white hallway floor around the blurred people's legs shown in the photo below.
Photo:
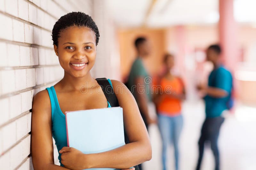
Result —
<path fill-rule="evenodd" d="M 252 118 L 250 112 L 244 114 L 239 110 L 245 110 L 245 106 L 239 105 L 236 114 L 228 114 L 221 127 L 219 148 L 220 164 L 222 170 L 255 170 L 256 169 L 256 117 Z M 255 113 L 255 109 L 251 111 Z M 197 141 L 200 129 L 204 121 L 203 101 L 186 101 L 183 103 L 184 126 L 180 137 L 180 170 L 194 170 L 198 155 Z M 248 117 L 251 118 L 248 118 Z M 150 128 L 153 158 L 144 164 L 147 170 L 161 170 L 161 141 L 158 129 Z M 174 169 L 173 148 L 168 150 L 168 168 Z M 213 154 L 210 146 L 205 148 L 202 170 L 214 168 Z"/>

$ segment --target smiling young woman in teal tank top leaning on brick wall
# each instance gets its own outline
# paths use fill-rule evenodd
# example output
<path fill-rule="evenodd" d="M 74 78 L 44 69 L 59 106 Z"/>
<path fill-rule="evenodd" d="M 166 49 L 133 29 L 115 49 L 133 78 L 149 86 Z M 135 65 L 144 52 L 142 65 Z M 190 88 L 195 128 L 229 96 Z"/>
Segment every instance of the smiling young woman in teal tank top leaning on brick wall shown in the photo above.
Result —
<path fill-rule="evenodd" d="M 75 148 L 67 147 L 63 114 L 65 111 L 111 107 L 101 87 L 90 74 L 95 62 L 99 36 L 98 27 L 92 18 L 82 12 L 68 13 L 53 26 L 54 51 L 64 69 L 64 77 L 51 88 L 38 92 L 33 99 L 31 150 L 35 170 L 103 167 L 129 169 L 151 159 L 147 129 L 136 101 L 131 93 L 118 91 L 120 86 L 126 87 L 116 80 L 108 79 L 120 107 L 123 108 L 125 129 L 130 143 L 95 154 L 84 154 Z M 90 93 L 81 93 L 80 88 L 84 85 L 85 88 L 90 88 Z M 116 88 L 117 86 L 119 88 Z M 52 137 L 59 151 L 61 166 L 54 165 Z"/>

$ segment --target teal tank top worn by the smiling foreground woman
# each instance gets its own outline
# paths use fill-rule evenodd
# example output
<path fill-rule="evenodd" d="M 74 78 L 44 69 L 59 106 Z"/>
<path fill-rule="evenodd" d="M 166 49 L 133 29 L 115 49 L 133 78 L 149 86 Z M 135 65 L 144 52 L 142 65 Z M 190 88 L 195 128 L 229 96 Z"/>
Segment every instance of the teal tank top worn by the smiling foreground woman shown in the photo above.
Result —
<path fill-rule="evenodd" d="M 109 84 L 112 86 L 111 81 L 108 79 Z M 113 86 L 112 86 L 113 88 Z M 52 108 L 52 137 L 55 140 L 55 145 L 57 146 L 58 152 L 62 147 L 68 146 L 67 143 L 67 132 L 66 132 L 66 120 L 65 115 L 60 110 L 60 105 L 58 102 L 58 98 L 56 95 L 56 91 L 54 87 L 46 88 L 51 100 L 51 108 Z M 110 103 L 108 102 L 108 107 Z M 61 154 L 59 153 L 59 162 L 60 166 L 64 166 L 61 164 Z"/>

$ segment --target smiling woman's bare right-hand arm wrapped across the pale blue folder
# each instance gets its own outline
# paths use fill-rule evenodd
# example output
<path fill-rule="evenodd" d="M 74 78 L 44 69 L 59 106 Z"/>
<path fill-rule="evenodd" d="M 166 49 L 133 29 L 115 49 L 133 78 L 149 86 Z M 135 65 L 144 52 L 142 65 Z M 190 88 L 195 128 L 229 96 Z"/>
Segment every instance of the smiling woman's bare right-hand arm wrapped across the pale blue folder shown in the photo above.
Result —
<path fill-rule="evenodd" d="M 123 108 L 124 126 L 130 143 L 107 152 L 84 154 L 79 163 L 77 162 L 83 163 L 81 167 L 83 169 L 102 167 L 124 169 L 148 161 L 152 157 L 148 132 L 134 97 L 123 83 L 111 81 L 119 105 Z M 72 157 L 72 152 L 76 154 L 78 151 L 74 148 L 63 147 L 60 152 L 69 153 L 70 156 L 61 157 L 61 160 L 63 158 L 63 161 L 66 161 L 63 162 L 64 165 L 68 165 L 72 164 L 68 161 L 68 158 Z"/>

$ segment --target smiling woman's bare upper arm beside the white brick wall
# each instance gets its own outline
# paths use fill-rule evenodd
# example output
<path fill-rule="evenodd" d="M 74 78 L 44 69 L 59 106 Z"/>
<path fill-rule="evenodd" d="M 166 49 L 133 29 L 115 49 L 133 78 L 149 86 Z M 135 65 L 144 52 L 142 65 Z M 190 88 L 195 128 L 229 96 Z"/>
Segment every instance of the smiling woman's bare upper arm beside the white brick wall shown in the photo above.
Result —
<path fill-rule="evenodd" d="M 38 92 L 33 98 L 31 152 L 35 170 L 68 170 L 54 165 L 51 102 L 47 90 Z"/>

